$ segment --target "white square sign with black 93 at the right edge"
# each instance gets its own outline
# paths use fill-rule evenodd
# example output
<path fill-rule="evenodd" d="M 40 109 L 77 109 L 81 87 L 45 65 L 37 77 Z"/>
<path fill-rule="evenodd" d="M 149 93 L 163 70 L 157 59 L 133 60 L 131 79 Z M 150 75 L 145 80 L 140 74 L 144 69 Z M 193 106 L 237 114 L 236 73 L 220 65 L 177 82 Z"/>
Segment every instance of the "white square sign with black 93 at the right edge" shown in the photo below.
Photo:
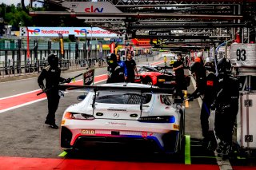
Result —
<path fill-rule="evenodd" d="M 230 62 L 236 66 L 256 67 L 256 44 L 231 44 Z"/>

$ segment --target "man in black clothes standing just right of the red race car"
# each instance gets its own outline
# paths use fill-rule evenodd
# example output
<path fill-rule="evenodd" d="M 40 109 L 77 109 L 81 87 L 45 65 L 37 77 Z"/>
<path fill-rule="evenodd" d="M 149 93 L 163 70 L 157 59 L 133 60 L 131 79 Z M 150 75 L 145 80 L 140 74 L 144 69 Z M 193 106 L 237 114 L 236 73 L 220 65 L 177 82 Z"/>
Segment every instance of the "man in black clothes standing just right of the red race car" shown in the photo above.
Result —
<path fill-rule="evenodd" d="M 182 61 L 182 54 L 179 53 L 177 61 L 174 61 L 173 70 L 175 72 L 176 95 L 181 97 L 182 100 L 184 100 L 182 90 L 186 89 L 186 80 L 183 67 L 184 62 Z"/>

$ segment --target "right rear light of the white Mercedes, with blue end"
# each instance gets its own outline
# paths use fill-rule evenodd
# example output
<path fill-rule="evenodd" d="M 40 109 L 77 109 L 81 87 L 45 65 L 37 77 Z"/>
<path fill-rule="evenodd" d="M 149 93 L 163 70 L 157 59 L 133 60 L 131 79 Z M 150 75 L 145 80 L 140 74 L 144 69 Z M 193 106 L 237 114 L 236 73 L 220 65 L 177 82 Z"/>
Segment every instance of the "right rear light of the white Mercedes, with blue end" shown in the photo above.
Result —
<path fill-rule="evenodd" d="M 146 123 L 174 123 L 174 116 L 155 116 L 155 117 L 140 117 L 138 118 L 140 122 Z"/>

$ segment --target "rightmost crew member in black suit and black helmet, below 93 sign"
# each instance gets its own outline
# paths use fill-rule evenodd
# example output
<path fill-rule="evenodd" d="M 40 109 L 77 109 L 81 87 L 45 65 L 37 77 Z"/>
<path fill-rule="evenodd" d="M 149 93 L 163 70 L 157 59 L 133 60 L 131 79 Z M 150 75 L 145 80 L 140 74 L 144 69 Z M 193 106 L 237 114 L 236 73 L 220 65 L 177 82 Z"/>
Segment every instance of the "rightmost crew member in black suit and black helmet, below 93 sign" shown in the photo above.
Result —
<path fill-rule="evenodd" d="M 230 60 L 218 61 L 218 90 L 212 105 L 215 109 L 214 131 L 218 139 L 216 152 L 219 156 L 229 156 L 232 151 L 232 134 L 238 114 L 239 83 L 231 74 Z"/>

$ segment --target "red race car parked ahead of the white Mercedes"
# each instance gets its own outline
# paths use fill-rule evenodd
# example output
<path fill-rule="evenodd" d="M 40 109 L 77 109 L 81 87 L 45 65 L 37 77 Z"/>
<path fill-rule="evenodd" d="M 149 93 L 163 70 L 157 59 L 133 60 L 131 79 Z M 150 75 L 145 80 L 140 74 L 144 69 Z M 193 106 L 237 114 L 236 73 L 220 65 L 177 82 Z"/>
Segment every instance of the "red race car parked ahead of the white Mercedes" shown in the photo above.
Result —
<path fill-rule="evenodd" d="M 172 88 L 176 85 L 175 73 L 168 70 L 170 67 L 159 67 L 153 65 L 136 65 L 138 75 L 135 76 L 135 83 L 156 85 L 159 87 Z M 190 77 L 185 76 L 186 85 L 190 85 Z"/>

